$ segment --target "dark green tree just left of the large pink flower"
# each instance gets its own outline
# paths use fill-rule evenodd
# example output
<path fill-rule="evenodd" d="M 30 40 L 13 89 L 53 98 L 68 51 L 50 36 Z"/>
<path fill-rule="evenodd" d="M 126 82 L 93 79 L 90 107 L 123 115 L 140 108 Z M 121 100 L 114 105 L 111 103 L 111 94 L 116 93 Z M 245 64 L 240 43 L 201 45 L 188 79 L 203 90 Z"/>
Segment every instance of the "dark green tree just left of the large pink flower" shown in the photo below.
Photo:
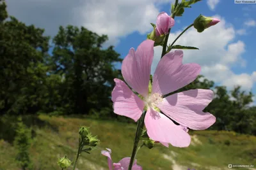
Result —
<path fill-rule="evenodd" d="M 122 59 L 113 46 L 102 48 L 107 40 L 106 35 L 99 36 L 72 25 L 60 27 L 54 37 L 51 73 L 63 78 L 61 106 L 67 113 L 88 113 L 91 108 L 99 111 L 111 107 L 113 79 L 120 75 L 114 64 Z"/>

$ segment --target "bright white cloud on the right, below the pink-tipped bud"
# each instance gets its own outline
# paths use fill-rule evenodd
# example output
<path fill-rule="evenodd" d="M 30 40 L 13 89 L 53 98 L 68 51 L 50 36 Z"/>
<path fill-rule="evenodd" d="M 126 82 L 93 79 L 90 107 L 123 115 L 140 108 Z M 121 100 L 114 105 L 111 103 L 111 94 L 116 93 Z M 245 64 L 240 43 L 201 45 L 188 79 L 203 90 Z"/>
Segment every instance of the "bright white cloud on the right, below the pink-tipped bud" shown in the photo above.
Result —
<path fill-rule="evenodd" d="M 241 85 L 243 90 L 251 90 L 256 81 L 256 72 L 252 74 L 235 74 L 231 67 L 246 66 L 242 55 L 245 52 L 243 41 L 234 41 L 236 31 L 224 18 L 221 22 L 202 33 L 194 28 L 185 32 L 175 43 L 176 45 L 195 46 L 200 50 L 184 50 L 184 63 L 196 62 L 202 66 L 202 74 L 215 83 L 226 85 L 232 89 L 234 85 Z M 183 29 L 182 29 L 183 30 Z M 181 31 L 172 32 L 168 44 L 177 38 Z M 155 47 L 155 58 L 152 73 L 156 69 L 162 48 Z"/>

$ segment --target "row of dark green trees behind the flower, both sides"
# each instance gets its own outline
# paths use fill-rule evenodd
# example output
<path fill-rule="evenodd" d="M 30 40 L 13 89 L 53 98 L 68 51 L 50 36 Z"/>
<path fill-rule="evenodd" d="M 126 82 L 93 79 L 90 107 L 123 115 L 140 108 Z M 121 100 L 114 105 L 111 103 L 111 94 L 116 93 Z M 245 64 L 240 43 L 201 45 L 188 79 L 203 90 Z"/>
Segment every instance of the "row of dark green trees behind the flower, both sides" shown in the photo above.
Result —
<path fill-rule="evenodd" d="M 50 43 L 52 41 L 52 43 Z M 60 26 L 56 36 L 8 16 L 0 0 L 0 115 L 54 113 L 117 118 L 111 91 L 122 79 L 122 62 L 114 46 L 102 48 L 108 36 L 84 27 Z M 252 92 L 237 86 L 228 91 L 199 76 L 178 90 L 212 89 L 215 98 L 205 111 L 216 116 L 211 129 L 256 134 Z"/>

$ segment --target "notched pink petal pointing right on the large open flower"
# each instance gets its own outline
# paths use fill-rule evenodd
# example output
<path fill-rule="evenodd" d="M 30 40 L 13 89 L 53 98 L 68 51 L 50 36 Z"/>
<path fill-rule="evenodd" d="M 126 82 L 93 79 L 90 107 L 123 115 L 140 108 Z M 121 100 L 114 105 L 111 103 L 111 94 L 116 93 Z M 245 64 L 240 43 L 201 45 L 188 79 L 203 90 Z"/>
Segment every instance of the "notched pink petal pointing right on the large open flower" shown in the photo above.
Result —
<path fill-rule="evenodd" d="M 211 113 L 202 110 L 212 101 L 212 90 L 193 89 L 163 99 L 157 107 L 179 124 L 194 130 L 204 130 L 216 121 Z"/>

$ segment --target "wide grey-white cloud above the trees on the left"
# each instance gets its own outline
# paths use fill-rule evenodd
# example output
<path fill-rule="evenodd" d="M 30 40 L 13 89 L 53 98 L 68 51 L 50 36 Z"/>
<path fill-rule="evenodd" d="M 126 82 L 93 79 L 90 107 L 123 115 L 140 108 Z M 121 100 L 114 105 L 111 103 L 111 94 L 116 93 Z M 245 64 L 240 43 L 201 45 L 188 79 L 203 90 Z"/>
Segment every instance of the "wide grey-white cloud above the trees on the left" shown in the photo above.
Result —
<path fill-rule="evenodd" d="M 159 9 L 156 4 L 170 0 L 8 0 L 8 12 L 26 24 L 45 28 L 54 36 L 59 25 L 84 26 L 98 34 L 108 34 L 109 43 L 134 31 L 150 31 Z"/>

